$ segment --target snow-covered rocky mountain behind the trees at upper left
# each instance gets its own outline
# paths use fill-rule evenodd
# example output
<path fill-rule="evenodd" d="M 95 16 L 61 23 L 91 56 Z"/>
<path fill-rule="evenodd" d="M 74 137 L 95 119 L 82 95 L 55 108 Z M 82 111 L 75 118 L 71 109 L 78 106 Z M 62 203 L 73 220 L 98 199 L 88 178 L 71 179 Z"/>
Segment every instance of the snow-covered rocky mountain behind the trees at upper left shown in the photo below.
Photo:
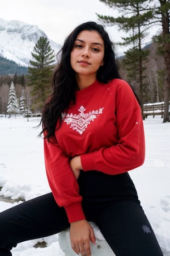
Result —
<path fill-rule="evenodd" d="M 0 18 L 0 56 L 28 67 L 31 52 L 40 36 L 48 38 L 38 26 Z M 49 38 L 48 40 L 54 52 L 57 53 L 61 46 Z"/>

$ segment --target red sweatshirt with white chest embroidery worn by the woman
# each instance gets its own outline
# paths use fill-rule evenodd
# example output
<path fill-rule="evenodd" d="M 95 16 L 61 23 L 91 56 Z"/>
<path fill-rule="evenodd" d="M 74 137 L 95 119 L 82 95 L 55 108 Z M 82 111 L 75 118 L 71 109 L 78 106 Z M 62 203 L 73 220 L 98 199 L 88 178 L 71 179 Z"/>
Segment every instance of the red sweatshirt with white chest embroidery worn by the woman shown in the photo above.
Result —
<path fill-rule="evenodd" d="M 57 204 L 70 222 L 85 218 L 70 159 L 80 155 L 83 171 L 122 174 L 145 160 L 141 108 L 121 79 L 95 81 L 76 92 L 76 102 L 50 142 L 44 140 L 46 174 Z"/>

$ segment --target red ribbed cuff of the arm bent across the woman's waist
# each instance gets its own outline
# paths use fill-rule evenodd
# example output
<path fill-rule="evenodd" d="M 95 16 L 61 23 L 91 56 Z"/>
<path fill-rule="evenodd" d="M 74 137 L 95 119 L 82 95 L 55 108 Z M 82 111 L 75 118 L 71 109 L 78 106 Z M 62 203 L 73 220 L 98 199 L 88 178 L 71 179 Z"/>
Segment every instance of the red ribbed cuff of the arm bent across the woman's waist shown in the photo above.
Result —
<path fill-rule="evenodd" d="M 95 152 L 83 154 L 80 158 L 84 171 L 96 170 Z"/>

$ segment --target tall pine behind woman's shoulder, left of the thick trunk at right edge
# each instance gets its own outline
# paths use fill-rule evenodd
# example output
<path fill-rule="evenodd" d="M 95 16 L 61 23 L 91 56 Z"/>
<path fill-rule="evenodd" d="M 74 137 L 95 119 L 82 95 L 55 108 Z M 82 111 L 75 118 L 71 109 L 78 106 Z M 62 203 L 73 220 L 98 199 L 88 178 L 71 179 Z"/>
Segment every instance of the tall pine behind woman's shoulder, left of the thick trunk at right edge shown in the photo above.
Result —
<path fill-rule="evenodd" d="M 143 77 L 143 71 L 145 69 L 145 62 L 148 51 L 142 49 L 142 42 L 146 36 L 146 30 L 150 28 L 150 20 L 153 17 L 152 9 L 148 6 L 148 0 L 100 0 L 104 2 L 111 8 L 118 9 L 121 16 L 114 18 L 113 16 L 99 15 L 100 20 L 104 21 L 106 24 L 113 26 L 117 24 L 120 30 L 125 32 L 131 32 L 131 35 L 126 38 L 122 38 L 123 43 L 119 43 L 122 46 L 130 46 L 131 48 L 125 52 L 126 64 L 129 68 L 129 76 L 133 74 L 133 80 L 135 79 L 135 84 L 139 88 L 139 98 L 141 100 L 141 106 L 143 110 L 144 101 L 144 88 L 145 82 Z M 134 55 L 135 54 L 135 55 Z M 134 61 L 134 63 L 132 62 Z M 131 82 L 131 81 L 130 81 Z"/>

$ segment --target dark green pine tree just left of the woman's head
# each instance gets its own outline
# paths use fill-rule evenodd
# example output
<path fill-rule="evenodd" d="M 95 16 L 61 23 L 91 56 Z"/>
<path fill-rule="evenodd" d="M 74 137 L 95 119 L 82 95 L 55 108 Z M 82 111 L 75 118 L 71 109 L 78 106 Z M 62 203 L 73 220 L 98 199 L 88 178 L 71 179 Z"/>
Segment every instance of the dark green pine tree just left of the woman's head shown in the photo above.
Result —
<path fill-rule="evenodd" d="M 52 90 L 50 78 L 54 68 L 54 51 L 50 47 L 48 39 L 41 36 L 31 55 L 32 60 L 29 61 L 31 67 L 28 67 L 28 86 L 32 86 L 31 94 L 35 96 L 33 109 L 36 112 L 41 112 L 42 106 Z"/>

